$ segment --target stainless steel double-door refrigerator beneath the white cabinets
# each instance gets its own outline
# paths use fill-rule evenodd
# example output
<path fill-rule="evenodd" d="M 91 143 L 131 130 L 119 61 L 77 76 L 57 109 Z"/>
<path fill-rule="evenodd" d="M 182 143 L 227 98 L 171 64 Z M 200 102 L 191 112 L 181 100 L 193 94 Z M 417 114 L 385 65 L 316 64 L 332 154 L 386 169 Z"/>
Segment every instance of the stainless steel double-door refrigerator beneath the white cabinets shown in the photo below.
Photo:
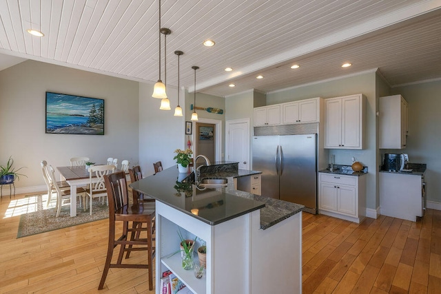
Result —
<path fill-rule="evenodd" d="M 253 170 L 262 171 L 262 195 L 317 210 L 317 135 L 254 136 Z"/>

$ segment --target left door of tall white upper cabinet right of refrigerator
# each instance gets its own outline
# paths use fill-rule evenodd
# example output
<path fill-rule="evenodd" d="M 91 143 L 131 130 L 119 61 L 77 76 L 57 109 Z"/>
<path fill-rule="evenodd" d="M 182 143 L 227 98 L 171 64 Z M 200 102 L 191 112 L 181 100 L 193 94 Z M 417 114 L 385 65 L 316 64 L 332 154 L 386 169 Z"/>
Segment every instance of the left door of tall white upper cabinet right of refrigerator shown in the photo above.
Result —
<path fill-rule="evenodd" d="M 341 145 L 341 99 L 326 101 L 325 148 L 335 148 Z"/>

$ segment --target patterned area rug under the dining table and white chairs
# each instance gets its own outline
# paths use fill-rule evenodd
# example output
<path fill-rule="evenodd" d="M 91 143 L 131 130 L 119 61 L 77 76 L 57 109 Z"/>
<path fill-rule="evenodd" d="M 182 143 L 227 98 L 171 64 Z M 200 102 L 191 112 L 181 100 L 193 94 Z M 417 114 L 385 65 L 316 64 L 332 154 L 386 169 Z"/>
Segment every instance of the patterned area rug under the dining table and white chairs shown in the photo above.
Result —
<path fill-rule="evenodd" d="M 94 198 L 92 202 L 92 216 L 89 214 L 89 209 L 85 210 L 80 207 L 78 201 L 76 203 L 76 217 L 74 218 L 70 217 L 69 200 L 63 200 L 58 218 L 55 217 L 57 215 L 55 197 L 52 196 L 48 207 L 46 207 L 47 200 L 47 194 L 30 195 L 23 198 L 21 208 L 23 213 L 20 216 L 17 238 L 109 218 L 109 207 L 105 202 L 101 203 L 99 198 Z"/>

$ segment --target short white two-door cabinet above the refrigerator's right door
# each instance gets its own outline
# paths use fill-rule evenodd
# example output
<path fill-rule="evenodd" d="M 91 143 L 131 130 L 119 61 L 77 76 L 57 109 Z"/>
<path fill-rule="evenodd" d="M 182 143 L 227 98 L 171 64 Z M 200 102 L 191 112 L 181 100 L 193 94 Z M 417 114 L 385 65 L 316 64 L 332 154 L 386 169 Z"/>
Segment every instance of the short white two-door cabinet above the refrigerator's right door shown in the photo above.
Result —
<path fill-rule="evenodd" d="M 320 98 L 311 98 L 282 104 L 282 123 L 316 123 L 319 120 Z"/>

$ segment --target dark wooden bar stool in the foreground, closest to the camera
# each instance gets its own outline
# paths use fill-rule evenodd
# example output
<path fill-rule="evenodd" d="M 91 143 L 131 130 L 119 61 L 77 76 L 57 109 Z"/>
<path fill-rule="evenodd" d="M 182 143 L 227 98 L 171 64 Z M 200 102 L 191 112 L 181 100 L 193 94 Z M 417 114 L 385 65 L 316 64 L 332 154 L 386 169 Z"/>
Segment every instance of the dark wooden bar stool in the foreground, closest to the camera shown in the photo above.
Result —
<path fill-rule="evenodd" d="M 101 282 L 98 289 L 101 290 L 105 283 L 105 278 L 110 268 L 131 268 L 148 269 L 149 290 L 153 289 L 153 258 L 155 248 L 152 242 L 152 219 L 155 214 L 154 202 L 142 202 L 139 204 L 129 203 L 129 194 L 127 192 L 127 182 L 124 171 L 118 171 L 114 174 L 104 176 L 105 187 L 107 189 L 107 198 L 109 200 L 109 242 L 107 246 L 107 257 L 101 276 Z M 121 237 L 115 240 L 116 222 L 123 222 L 123 232 Z M 129 228 L 129 222 L 145 224 L 145 227 L 133 226 Z M 139 238 L 137 232 L 146 231 L 147 238 Z M 137 238 L 127 240 L 128 233 Z M 136 247 L 132 247 L 136 245 Z M 120 246 L 118 260 L 112 264 L 112 255 L 114 247 Z M 130 247 L 129 247 L 130 246 Z M 147 251 L 147 264 L 123 264 L 124 252 Z M 127 258 L 127 257 L 126 257 Z"/>

